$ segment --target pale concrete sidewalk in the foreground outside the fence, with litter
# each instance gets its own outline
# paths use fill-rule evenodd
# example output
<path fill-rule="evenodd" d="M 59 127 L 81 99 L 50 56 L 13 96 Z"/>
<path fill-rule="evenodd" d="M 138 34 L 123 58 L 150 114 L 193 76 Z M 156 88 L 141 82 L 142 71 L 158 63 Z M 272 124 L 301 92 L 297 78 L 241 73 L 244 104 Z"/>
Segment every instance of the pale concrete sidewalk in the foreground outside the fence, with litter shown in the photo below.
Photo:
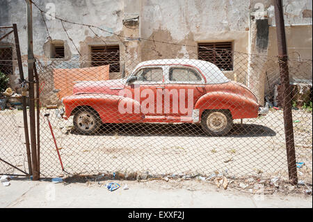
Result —
<path fill-rule="evenodd" d="M 0 207 L 312 207 L 312 196 L 301 194 L 266 195 L 260 200 L 250 193 L 217 190 L 214 185 L 201 182 L 191 186 L 155 181 L 115 182 L 121 187 L 111 192 L 97 183 L 88 186 L 88 183 L 11 180 L 9 187 L 0 184 Z M 122 189 L 125 184 L 128 190 Z"/>

